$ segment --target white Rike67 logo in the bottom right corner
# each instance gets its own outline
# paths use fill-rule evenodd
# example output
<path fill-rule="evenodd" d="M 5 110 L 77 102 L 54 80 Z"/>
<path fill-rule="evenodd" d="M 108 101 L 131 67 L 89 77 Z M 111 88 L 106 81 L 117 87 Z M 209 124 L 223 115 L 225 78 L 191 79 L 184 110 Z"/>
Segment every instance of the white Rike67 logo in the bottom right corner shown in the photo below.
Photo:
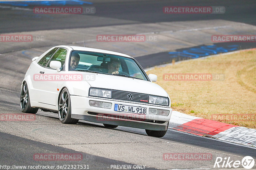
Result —
<path fill-rule="evenodd" d="M 240 160 L 231 160 L 230 157 L 228 159 L 225 157 L 224 159 L 221 157 L 217 157 L 214 163 L 214 168 L 238 168 L 241 165 L 245 169 L 251 169 L 254 166 L 254 159 L 251 156 L 245 156 L 242 161 Z"/>

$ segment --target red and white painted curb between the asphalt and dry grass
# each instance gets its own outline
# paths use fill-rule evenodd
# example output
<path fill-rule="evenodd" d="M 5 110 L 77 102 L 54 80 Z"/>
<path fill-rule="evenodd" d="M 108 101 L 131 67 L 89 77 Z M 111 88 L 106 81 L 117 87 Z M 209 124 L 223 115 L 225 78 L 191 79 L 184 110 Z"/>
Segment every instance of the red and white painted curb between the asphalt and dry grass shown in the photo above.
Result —
<path fill-rule="evenodd" d="M 256 130 L 172 111 L 169 128 L 256 147 Z"/>

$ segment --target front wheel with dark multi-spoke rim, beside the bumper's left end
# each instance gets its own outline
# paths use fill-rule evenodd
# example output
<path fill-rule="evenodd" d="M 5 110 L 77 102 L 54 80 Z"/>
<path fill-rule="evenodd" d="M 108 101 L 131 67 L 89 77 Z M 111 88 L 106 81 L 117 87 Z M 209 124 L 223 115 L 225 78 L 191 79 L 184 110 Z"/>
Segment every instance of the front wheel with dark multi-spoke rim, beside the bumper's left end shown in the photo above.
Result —
<path fill-rule="evenodd" d="M 71 101 L 68 89 L 62 90 L 58 101 L 58 115 L 63 124 L 76 124 L 78 119 L 71 118 Z"/>

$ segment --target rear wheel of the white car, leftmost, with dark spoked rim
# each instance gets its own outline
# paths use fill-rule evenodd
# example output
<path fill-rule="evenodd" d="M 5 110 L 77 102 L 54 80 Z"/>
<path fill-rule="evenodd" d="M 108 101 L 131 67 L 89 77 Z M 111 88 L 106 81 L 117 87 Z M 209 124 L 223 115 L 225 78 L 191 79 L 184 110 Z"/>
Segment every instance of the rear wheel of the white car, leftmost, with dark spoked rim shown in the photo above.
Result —
<path fill-rule="evenodd" d="M 20 109 L 23 113 L 33 113 L 36 114 L 38 108 L 33 108 L 30 105 L 30 98 L 28 92 L 28 84 L 26 81 L 23 82 L 21 93 L 20 93 Z"/>

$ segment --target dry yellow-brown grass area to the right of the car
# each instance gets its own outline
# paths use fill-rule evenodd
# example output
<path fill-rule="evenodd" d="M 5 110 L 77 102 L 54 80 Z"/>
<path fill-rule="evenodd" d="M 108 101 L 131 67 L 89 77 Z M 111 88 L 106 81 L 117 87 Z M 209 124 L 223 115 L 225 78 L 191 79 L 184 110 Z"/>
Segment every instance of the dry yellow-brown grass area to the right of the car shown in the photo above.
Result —
<path fill-rule="evenodd" d="M 156 81 L 167 91 L 172 109 L 206 119 L 212 115 L 253 114 L 251 121 L 217 121 L 256 129 L 256 50 L 155 68 Z M 224 81 L 164 81 L 164 73 L 225 74 Z"/>

